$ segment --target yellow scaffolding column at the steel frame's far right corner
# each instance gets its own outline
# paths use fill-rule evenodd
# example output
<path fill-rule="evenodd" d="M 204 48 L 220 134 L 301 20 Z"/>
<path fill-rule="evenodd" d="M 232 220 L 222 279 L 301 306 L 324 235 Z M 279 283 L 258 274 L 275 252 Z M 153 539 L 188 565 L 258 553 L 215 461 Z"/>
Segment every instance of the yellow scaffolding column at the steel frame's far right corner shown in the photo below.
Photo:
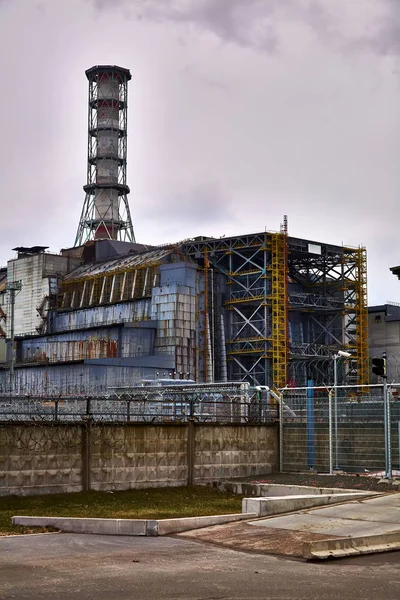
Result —
<path fill-rule="evenodd" d="M 368 353 L 368 298 L 367 298 L 367 250 L 361 246 L 356 250 L 356 348 L 357 383 L 369 383 Z"/>

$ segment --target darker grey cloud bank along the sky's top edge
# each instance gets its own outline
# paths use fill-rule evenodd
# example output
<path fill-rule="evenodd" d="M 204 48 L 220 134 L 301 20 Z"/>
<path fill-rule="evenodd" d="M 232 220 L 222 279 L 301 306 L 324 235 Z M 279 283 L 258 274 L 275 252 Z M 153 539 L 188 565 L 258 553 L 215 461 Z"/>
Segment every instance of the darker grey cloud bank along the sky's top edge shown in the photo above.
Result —
<path fill-rule="evenodd" d="M 99 11 L 120 9 L 126 18 L 186 24 L 224 42 L 269 53 L 280 45 L 279 26 L 301 22 L 345 52 L 398 55 L 398 0 L 90 0 Z M 367 15 L 361 31 L 346 31 L 343 10 Z M 364 13 L 361 15 L 360 11 Z M 369 17 L 369 18 L 368 18 Z M 364 19 L 361 19 L 364 23 Z"/>

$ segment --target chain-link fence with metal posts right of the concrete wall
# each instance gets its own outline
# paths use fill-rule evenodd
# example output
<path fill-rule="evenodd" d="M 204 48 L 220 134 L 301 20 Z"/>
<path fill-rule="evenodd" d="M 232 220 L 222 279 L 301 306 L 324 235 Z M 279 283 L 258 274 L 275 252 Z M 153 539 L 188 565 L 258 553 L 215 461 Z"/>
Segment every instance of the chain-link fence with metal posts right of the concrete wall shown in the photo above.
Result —
<path fill-rule="evenodd" d="M 281 471 L 400 470 L 400 386 L 288 388 L 280 405 Z"/>

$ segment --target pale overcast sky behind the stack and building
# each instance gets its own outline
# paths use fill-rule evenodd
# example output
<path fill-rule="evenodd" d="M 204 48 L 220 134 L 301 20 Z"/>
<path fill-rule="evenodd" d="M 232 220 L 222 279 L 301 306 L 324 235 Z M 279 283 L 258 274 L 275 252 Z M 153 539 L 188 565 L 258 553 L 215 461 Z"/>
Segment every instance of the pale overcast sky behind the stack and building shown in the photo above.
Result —
<path fill-rule="evenodd" d="M 366 245 L 400 302 L 400 0 L 0 0 L 0 264 L 72 246 L 87 80 L 129 68 L 136 239 Z"/>

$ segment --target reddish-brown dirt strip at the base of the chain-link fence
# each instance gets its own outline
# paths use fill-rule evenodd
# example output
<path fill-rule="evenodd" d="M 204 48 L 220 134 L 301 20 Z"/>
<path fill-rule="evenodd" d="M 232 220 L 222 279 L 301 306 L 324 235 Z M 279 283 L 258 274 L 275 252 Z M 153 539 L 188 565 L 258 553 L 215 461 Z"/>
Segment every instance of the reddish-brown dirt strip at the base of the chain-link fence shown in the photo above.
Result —
<path fill-rule="evenodd" d="M 248 477 L 249 483 L 280 483 L 282 485 L 309 485 L 313 487 L 345 488 L 355 490 L 368 490 L 376 492 L 400 491 L 400 480 L 379 483 L 380 477 L 368 475 L 320 475 L 309 473 L 272 473 L 258 477 Z M 396 485 L 398 484 L 398 485 Z"/>

